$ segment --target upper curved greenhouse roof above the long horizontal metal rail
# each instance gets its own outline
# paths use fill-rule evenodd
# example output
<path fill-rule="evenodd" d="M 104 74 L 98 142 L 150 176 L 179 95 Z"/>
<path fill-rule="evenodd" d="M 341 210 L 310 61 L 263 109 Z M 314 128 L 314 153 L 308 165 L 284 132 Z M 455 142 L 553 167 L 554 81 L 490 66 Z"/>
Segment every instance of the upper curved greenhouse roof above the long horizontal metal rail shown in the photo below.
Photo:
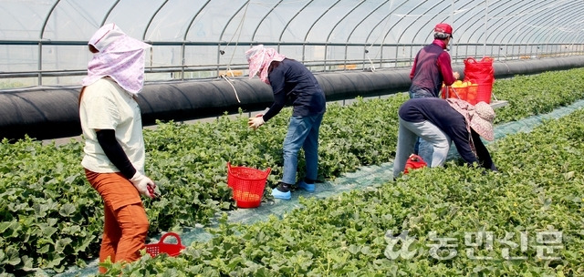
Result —
<path fill-rule="evenodd" d="M 145 5 L 148 3 L 148 5 Z M 87 41 L 110 22 L 146 41 L 413 43 L 448 22 L 465 43 L 579 43 L 581 0 L 2 0 L 0 40 Z"/>

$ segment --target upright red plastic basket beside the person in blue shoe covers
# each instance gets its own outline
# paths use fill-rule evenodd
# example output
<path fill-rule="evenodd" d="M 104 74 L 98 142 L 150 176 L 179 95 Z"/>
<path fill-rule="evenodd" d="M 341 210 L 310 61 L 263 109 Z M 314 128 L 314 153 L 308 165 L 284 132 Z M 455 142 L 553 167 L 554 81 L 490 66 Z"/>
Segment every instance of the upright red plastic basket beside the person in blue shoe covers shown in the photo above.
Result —
<path fill-rule="evenodd" d="M 227 163 L 227 186 L 234 190 L 235 204 L 239 208 L 259 207 L 264 196 L 267 176 L 272 169 L 266 171 L 247 167 L 232 167 Z"/>

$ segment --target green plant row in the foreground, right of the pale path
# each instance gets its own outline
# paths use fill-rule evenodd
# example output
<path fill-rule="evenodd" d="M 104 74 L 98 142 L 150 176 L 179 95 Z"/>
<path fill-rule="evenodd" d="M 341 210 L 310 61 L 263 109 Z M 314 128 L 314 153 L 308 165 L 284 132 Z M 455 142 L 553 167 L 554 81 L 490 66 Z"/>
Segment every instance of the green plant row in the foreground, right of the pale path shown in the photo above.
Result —
<path fill-rule="evenodd" d="M 211 241 L 123 270 L 107 263 L 107 275 L 582 276 L 582 117 L 489 145 L 499 173 L 450 161 L 378 188 L 301 199 L 281 220 L 224 216 Z"/>

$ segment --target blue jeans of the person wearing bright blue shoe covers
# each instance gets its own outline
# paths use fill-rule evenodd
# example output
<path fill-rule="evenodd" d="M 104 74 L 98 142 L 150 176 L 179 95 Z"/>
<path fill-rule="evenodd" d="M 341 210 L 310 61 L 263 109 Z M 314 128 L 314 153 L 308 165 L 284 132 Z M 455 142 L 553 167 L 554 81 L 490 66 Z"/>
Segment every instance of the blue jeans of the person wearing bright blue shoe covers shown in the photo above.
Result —
<path fill-rule="evenodd" d="M 323 115 L 311 117 L 292 117 L 284 139 L 284 176 L 282 182 L 296 183 L 298 151 L 304 149 L 307 179 L 318 177 L 318 129 Z"/>

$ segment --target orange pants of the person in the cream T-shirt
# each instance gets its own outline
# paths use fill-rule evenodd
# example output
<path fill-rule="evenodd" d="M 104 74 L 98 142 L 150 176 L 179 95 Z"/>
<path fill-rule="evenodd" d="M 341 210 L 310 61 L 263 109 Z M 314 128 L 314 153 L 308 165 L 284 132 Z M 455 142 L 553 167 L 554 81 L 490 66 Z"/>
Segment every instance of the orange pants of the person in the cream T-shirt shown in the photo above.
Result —
<path fill-rule="evenodd" d="M 133 262 L 140 259 L 140 250 L 148 233 L 148 218 L 140 193 L 120 173 L 96 173 L 88 169 L 85 175 L 104 203 L 105 223 L 99 251 L 99 262 Z M 99 267 L 99 272 L 106 272 Z"/>

